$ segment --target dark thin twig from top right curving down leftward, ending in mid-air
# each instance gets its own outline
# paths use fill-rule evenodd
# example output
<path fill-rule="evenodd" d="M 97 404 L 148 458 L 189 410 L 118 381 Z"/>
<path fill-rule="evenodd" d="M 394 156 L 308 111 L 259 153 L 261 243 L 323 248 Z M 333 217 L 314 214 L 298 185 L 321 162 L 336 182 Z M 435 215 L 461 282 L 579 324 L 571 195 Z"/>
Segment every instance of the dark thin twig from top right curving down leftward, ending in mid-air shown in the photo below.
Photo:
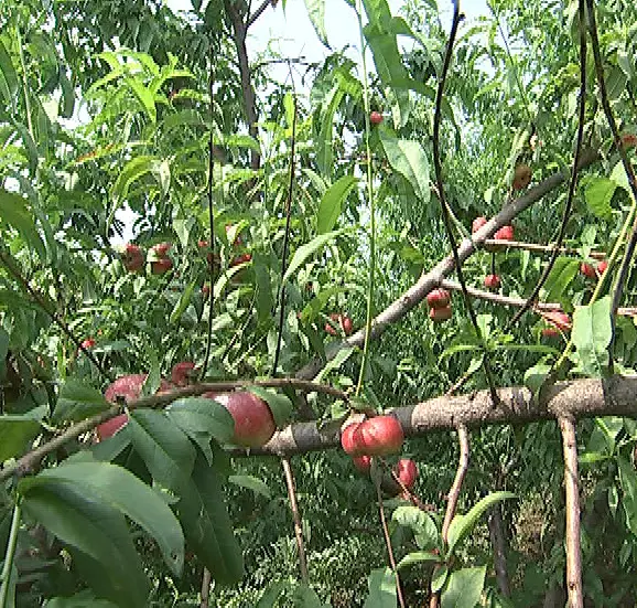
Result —
<path fill-rule="evenodd" d="M 571 169 L 571 181 L 569 183 L 569 194 L 566 196 L 566 203 L 564 204 L 564 213 L 562 215 L 562 223 L 560 225 L 560 232 L 558 234 L 558 239 L 555 241 L 553 253 L 549 259 L 549 264 L 544 267 L 540 280 L 537 282 L 531 295 L 527 298 L 525 306 L 518 312 L 516 312 L 510 320 L 508 327 L 514 327 L 521 318 L 522 314 L 531 308 L 536 301 L 538 294 L 547 282 L 553 266 L 560 255 L 560 247 L 564 241 L 566 234 L 566 225 L 571 216 L 571 209 L 573 206 L 573 199 L 575 196 L 575 185 L 577 184 L 577 168 L 580 167 L 580 156 L 582 153 L 582 142 L 584 140 L 584 122 L 586 120 L 586 30 L 584 28 L 584 0 L 580 0 L 579 6 L 579 19 L 580 19 L 580 116 L 577 124 L 577 142 L 575 145 L 575 156 L 573 157 L 573 168 Z"/>

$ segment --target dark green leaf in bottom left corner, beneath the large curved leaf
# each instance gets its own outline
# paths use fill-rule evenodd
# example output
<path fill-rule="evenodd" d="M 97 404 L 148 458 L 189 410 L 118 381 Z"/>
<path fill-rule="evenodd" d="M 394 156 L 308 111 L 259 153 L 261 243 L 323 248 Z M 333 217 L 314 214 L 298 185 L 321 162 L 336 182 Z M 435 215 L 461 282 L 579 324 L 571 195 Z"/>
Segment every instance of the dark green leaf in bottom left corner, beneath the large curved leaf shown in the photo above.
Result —
<path fill-rule="evenodd" d="M 63 468 L 66 465 L 47 471 Z M 123 515 L 77 484 L 56 479 L 42 483 L 41 476 L 19 484 L 24 512 L 84 554 L 74 559 L 76 567 L 88 559 L 99 563 L 98 596 L 122 608 L 145 606 L 150 585 Z"/>

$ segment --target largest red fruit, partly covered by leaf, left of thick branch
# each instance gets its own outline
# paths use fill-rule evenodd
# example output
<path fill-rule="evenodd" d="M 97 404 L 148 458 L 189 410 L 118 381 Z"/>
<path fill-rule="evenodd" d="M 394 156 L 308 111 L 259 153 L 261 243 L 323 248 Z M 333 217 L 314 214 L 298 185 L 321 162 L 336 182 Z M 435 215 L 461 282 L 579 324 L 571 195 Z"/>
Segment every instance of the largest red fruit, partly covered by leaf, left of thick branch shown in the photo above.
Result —
<path fill-rule="evenodd" d="M 220 403 L 235 420 L 233 444 L 245 448 L 260 448 L 274 435 L 277 424 L 270 406 L 247 391 L 234 393 L 205 393 L 204 397 Z"/>

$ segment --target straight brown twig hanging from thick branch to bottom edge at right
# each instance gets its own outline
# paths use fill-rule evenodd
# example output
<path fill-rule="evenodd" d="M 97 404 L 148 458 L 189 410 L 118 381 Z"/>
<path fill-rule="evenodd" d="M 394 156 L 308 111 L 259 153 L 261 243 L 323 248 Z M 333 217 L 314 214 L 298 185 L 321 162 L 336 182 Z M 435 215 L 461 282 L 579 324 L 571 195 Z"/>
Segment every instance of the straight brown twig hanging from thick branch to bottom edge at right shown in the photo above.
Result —
<path fill-rule="evenodd" d="M 580 543 L 580 490 L 577 480 L 577 440 L 572 417 L 560 417 L 564 450 L 564 486 L 566 491 L 566 588 L 569 608 L 583 608 L 582 547 Z"/>

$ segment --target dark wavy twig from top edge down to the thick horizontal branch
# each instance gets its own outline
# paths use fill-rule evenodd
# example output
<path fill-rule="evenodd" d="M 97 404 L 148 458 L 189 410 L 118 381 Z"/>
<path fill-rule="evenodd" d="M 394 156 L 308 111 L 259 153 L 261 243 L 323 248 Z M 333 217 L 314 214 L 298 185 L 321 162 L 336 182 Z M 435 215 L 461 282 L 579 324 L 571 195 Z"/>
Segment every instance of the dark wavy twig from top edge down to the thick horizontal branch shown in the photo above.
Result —
<path fill-rule="evenodd" d="M 454 9 L 454 11 L 453 11 L 453 21 L 452 21 L 452 25 L 451 25 L 451 32 L 449 34 L 449 41 L 446 44 L 446 52 L 445 52 L 445 56 L 444 56 L 442 74 L 440 75 L 440 82 L 439 82 L 438 92 L 435 95 L 435 114 L 434 114 L 434 118 L 433 118 L 433 164 L 435 167 L 435 181 L 436 181 L 436 188 L 438 188 L 438 193 L 439 193 L 439 200 L 440 200 L 441 207 L 442 207 L 442 218 L 444 221 L 444 227 L 446 231 L 446 236 L 449 238 L 449 242 L 451 244 L 451 248 L 453 252 L 453 259 L 455 263 L 455 271 L 457 273 L 457 279 L 462 286 L 465 306 L 466 306 L 467 312 L 469 314 L 472 324 L 474 327 L 474 331 L 476 333 L 478 342 L 481 344 L 483 344 L 483 346 L 484 346 L 484 338 L 483 338 L 481 328 L 478 326 L 475 311 L 473 309 L 472 300 L 471 300 L 471 298 L 466 291 L 466 285 L 465 285 L 464 276 L 463 276 L 463 271 L 462 271 L 462 262 L 460 259 L 460 255 L 457 253 L 457 246 L 455 243 L 455 238 L 453 236 L 453 230 L 451 226 L 451 218 L 450 218 L 450 211 L 449 211 L 447 203 L 446 203 L 445 195 L 444 195 L 444 185 L 442 182 L 442 164 L 440 161 L 440 124 L 441 124 L 441 118 L 442 118 L 442 100 L 443 100 L 443 94 L 444 94 L 444 83 L 446 79 L 446 74 L 449 72 L 449 66 L 451 63 L 451 56 L 453 54 L 453 43 L 455 41 L 457 26 L 458 26 L 460 21 L 461 21 L 460 1 L 458 0 L 454 0 L 453 9 Z M 494 380 L 494 374 L 492 371 L 489 356 L 486 353 L 486 350 L 484 350 L 483 367 L 484 367 L 485 375 L 487 378 L 487 384 L 488 384 L 489 390 L 492 392 L 492 397 L 494 398 L 494 402 L 495 402 L 497 398 L 496 383 Z"/>

